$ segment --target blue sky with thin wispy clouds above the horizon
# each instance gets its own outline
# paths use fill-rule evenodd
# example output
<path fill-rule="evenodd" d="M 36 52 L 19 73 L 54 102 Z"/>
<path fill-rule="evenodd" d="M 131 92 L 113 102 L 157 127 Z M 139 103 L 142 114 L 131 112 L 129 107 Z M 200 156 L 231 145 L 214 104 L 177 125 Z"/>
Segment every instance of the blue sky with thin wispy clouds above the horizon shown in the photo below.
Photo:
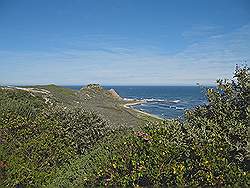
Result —
<path fill-rule="evenodd" d="M 250 0 L 0 0 L 0 84 L 195 85 L 250 60 Z"/>

